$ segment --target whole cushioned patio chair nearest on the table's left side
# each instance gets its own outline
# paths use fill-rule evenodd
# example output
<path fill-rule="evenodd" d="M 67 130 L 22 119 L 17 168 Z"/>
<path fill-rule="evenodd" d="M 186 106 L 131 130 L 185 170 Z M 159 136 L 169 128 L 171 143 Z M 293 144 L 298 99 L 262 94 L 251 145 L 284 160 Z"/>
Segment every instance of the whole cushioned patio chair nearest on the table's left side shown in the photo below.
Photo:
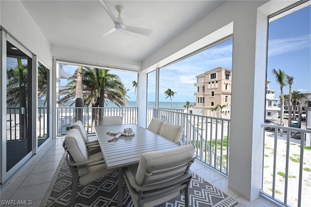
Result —
<path fill-rule="evenodd" d="M 78 184 L 87 185 L 115 170 L 106 169 L 102 152 L 88 154 L 81 133 L 77 129 L 68 132 L 63 147 L 67 151 L 66 161 L 72 174 L 70 207 L 74 207 Z"/>

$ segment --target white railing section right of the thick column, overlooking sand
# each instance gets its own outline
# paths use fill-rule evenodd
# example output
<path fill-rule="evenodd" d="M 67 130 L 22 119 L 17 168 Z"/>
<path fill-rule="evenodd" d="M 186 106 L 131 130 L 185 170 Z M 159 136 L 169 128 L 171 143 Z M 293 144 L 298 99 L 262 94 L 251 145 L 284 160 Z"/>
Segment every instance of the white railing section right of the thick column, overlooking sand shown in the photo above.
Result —
<path fill-rule="evenodd" d="M 282 206 L 309 206 L 311 147 L 306 146 L 306 140 L 311 130 L 271 124 L 262 127 L 266 129 L 262 195 Z"/>

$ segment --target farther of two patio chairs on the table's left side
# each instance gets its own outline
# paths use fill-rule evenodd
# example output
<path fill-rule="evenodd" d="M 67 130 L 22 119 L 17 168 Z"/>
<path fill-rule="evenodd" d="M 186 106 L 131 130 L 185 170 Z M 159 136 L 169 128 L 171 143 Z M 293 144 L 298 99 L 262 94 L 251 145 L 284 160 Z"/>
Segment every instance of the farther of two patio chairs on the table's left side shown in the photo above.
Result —
<path fill-rule="evenodd" d="M 72 125 L 72 129 L 77 129 L 81 133 L 81 137 L 86 144 L 86 148 L 89 154 L 94 154 L 101 151 L 96 134 L 87 134 L 86 129 L 80 120 L 76 121 Z M 96 140 L 89 141 L 88 138 L 96 138 Z"/>

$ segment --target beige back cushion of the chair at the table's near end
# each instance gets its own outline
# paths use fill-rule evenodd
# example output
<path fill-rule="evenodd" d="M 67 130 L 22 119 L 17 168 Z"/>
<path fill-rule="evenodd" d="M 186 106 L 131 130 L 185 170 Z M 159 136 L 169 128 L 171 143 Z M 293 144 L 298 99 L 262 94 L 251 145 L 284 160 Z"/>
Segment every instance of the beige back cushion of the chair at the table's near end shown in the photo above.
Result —
<path fill-rule="evenodd" d="M 138 185 L 142 185 L 146 169 L 167 166 L 173 163 L 191 159 L 193 156 L 194 147 L 192 145 L 185 145 L 167 151 L 145 152 L 141 154 L 139 158 L 138 169 L 135 177 L 136 182 Z"/>

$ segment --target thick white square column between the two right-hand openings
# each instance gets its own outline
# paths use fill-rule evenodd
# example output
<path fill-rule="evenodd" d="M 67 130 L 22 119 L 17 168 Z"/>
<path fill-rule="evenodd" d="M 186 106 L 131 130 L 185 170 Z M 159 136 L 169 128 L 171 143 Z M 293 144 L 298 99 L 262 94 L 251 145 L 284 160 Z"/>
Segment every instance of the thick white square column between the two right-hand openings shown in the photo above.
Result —
<path fill-rule="evenodd" d="M 257 8 L 246 8 L 253 11 L 233 21 L 228 187 L 253 201 L 262 185 L 268 20 Z"/>

